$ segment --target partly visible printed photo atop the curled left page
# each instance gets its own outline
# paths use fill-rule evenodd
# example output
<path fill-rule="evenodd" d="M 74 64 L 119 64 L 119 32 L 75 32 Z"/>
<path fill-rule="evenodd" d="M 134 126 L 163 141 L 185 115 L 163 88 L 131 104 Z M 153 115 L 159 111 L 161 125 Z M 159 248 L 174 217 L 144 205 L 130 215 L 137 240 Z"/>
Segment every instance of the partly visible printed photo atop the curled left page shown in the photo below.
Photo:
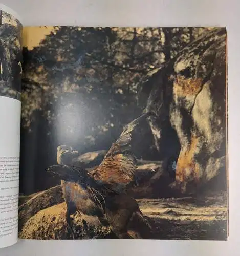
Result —
<path fill-rule="evenodd" d="M 0 10 L 0 96 L 17 100 L 21 91 L 22 30 L 18 19 Z"/>

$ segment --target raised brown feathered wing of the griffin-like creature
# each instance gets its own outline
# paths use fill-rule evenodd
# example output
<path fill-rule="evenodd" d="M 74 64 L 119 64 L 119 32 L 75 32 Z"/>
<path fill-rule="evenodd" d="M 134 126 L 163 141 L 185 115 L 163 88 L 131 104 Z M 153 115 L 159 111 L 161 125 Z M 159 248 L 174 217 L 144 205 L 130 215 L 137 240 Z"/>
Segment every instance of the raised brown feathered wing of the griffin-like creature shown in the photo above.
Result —
<path fill-rule="evenodd" d="M 132 152 L 132 132 L 149 116 L 156 115 L 152 112 L 145 113 L 124 127 L 120 137 L 112 144 L 101 164 L 91 172 L 95 180 L 111 184 L 114 190 L 118 191 L 134 181 L 137 161 Z"/>

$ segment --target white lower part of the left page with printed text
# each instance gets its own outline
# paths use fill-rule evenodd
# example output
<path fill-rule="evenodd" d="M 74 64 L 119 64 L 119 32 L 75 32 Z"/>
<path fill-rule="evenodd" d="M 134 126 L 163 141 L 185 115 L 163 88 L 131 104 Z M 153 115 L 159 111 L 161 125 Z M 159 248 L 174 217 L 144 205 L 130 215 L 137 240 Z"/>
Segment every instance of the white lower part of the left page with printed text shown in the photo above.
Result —
<path fill-rule="evenodd" d="M 0 96 L 0 247 L 17 242 L 21 103 Z"/>

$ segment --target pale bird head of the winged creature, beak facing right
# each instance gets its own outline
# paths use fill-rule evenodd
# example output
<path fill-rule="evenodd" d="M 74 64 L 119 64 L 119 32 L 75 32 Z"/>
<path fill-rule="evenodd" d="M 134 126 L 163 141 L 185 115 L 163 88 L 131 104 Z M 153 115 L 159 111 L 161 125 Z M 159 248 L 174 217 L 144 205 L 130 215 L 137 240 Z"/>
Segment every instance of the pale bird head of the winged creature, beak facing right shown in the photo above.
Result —
<path fill-rule="evenodd" d="M 73 150 L 71 146 L 58 146 L 57 163 L 71 165 L 72 159 L 78 154 L 78 151 Z"/>

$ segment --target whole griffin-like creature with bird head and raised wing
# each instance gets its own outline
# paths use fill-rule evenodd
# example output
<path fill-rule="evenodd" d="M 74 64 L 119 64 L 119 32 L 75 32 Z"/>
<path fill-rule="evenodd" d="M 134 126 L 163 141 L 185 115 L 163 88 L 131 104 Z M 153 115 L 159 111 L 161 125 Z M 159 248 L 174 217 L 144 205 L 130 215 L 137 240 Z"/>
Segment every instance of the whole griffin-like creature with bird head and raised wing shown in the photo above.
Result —
<path fill-rule="evenodd" d="M 109 223 L 119 238 L 148 238 L 150 226 L 143 218 L 136 200 L 124 193 L 134 183 L 136 158 L 132 152 L 132 132 L 145 118 L 155 115 L 145 113 L 124 127 L 118 140 L 112 144 L 99 166 L 91 173 L 71 166 L 76 153 L 68 146 L 59 146 L 58 164 L 48 171 L 61 179 L 67 204 L 66 218 L 71 229 L 70 215 L 97 216 L 102 223 Z M 87 229 L 83 220 L 84 228 Z"/>

